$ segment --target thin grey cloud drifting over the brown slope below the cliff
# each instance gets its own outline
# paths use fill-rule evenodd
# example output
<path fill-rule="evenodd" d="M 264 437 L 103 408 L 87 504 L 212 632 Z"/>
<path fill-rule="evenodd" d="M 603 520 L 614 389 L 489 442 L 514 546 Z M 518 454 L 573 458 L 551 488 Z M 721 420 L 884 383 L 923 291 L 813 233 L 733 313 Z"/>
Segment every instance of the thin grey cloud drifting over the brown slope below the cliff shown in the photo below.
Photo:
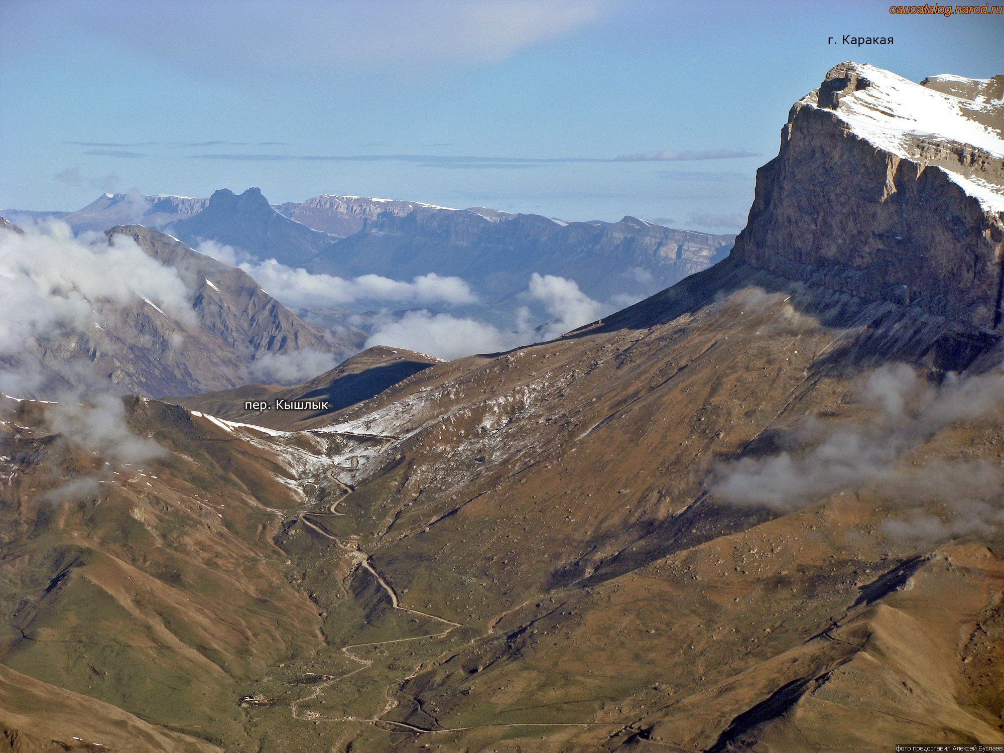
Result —
<path fill-rule="evenodd" d="M 960 519 L 969 520 L 966 525 L 1004 520 L 999 506 L 1004 479 L 999 469 L 943 459 L 919 468 L 900 464 L 949 425 L 995 415 L 1004 405 L 1004 367 L 949 378 L 935 388 L 908 365 L 883 366 L 864 380 L 861 395 L 875 411 L 872 418 L 858 423 L 807 419 L 778 454 L 720 466 L 709 491 L 732 504 L 788 512 L 841 489 L 870 484 L 907 504 L 949 504 Z M 923 516 L 915 516 L 912 523 L 896 523 L 891 530 L 907 535 L 912 527 L 918 533 L 925 527 L 954 530 L 934 526 Z"/>

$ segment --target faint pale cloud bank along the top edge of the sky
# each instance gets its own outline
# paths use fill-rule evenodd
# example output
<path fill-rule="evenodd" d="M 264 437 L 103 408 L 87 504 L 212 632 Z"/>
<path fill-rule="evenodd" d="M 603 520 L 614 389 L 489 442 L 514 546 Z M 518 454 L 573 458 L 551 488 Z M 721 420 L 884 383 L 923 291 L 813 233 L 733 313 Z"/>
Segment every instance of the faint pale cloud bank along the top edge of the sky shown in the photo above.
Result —
<path fill-rule="evenodd" d="M 50 5 L 55 8 L 50 8 Z M 566 36 L 600 20 L 616 0 L 227 0 L 140 3 L 59 0 L 18 12 L 17 37 L 39 35 L 56 13 L 76 33 L 133 45 L 198 75 L 282 77 L 293 70 L 338 75 L 418 72 L 479 65 Z M 30 4 L 29 4 L 30 5 Z M 157 29 L 151 34 L 150 29 Z M 24 43 L 26 45 L 26 42 Z M 18 49 L 23 49 L 19 47 Z"/>

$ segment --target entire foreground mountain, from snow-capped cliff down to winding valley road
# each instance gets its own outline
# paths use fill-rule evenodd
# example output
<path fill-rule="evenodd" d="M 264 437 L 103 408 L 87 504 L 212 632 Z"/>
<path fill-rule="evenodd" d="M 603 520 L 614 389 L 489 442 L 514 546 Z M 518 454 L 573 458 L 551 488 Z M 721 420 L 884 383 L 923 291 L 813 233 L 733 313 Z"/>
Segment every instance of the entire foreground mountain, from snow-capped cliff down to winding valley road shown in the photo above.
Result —
<path fill-rule="evenodd" d="M 837 89 L 836 109 L 812 104 Z M 944 149 L 902 157 L 847 128 L 901 101 L 881 109 L 906 138 L 982 163 L 1004 155 L 974 144 L 1002 103 L 926 131 L 893 98 L 919 89 L 945 93 L 830 71 L 728 259 L 298 431 L 131 398 L 94 432 L 107 406 L 4 399 L 6 739 L 61 745 L 76 724 L 86 749 L 142 720 L 156 751 L 1004 744 L 1004 350 L 960 305 L 998 189 L 943 180 Z M 826 277 L 841 220 L 807 197 L 841 184 L 847 215 L 903 218 L 848 244 L 906 238 L 936 207 L 929 228 L 971 256 L 915 243 L 900 267 L 956 264 L 966 284 L 897 299 L 902 269 L 854 245 Z M 774 238 L 798 245 L 757 245 Z M 32 701 L 46 692 L 58 716 Z"/>

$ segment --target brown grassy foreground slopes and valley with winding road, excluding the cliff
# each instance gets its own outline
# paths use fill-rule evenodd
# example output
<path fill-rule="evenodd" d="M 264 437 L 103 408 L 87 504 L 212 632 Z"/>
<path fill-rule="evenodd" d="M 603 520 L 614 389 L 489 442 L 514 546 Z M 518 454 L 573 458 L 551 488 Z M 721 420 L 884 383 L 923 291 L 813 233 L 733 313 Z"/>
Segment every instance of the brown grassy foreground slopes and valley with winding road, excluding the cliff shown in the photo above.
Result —
<path fill-rule="evenodd" d="M 882 489 L 789 514 L 703 493 L 716 458 L 807 414 L 862 420 L 859 373 L 964 335 L 730 261 L 561 340 L 431 366 L 333 431 L 138 402 L 172 454 L 56 508 L 40 492 L 103 461 L 19 405 L 3 662 L 235 751 L 994 742 L 996 534 L 891 537 Z M 999 423 L 916 457 L 964 449 L 995 459 Z"/>

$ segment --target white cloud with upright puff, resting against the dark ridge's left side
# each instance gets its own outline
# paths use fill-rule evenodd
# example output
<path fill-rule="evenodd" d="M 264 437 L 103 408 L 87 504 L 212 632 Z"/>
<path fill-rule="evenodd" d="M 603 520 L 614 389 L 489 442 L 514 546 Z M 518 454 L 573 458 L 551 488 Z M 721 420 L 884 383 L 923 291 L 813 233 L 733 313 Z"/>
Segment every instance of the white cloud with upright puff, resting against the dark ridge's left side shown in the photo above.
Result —
<path fill-rule="evenodd" d="M 370 321 L 375 331 L 365 344 L 366 347 L 404 347 L 452 360 L 552 339 L 615 308 L 613 304 L 603 304 L 587 296 L 574 280 L 536 272 L 521 295 L 531 305 L 544 309 L 547 316 L 544 325 L 536 328 L 529 325 L 531 312 L 528 307 L 517 311 L 511 330 L 470 317 L 433 314 L 425 309 L 408 311 L 400 318 L 382 312 Z"/>

